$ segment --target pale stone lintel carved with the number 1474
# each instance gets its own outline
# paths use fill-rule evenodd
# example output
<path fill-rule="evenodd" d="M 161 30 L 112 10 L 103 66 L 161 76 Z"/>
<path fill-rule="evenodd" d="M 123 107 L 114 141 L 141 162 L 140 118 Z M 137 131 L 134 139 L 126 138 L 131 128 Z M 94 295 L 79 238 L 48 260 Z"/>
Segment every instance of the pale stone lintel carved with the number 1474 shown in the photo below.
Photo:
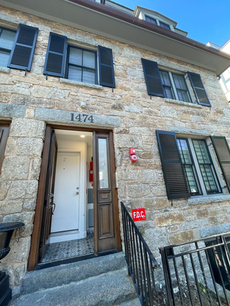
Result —
<path fill-rule="evenodd" d="M 120 118 L 106 115 L 95 115 L 89 113 L 79 113 L 75 111 L 61 111 L 51 108 L 36 108 L 36 120 L 43 120 L 47 123 L 64 123 L 74 127 L 101 127 L 112 129 L 120 127 Z"/>

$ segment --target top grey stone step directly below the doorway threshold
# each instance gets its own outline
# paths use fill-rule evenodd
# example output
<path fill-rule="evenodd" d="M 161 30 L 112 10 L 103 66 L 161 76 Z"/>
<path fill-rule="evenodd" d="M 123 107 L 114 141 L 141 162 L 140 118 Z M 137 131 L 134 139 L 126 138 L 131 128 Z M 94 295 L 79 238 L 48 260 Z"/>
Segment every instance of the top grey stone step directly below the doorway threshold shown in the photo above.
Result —
<path fill-rule="evenodd" d="M 116 271 L 126 266 L 123 252 L 96 257 L 71 264 L 26 273 L 22 280 L 21 295 L 79 282 L 88 277 Z"/>

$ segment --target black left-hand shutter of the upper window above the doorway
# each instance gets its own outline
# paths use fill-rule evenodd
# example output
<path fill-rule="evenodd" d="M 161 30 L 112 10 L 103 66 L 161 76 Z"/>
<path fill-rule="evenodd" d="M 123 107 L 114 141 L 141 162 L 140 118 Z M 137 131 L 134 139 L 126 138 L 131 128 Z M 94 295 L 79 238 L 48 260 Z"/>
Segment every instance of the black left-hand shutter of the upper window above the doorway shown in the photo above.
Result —
<path fill-rule="evenodd" d="M 66 36 L 52 32 L 49 33 L 43 74 L 63 77 L 66 58 L 66 41 Z"/>

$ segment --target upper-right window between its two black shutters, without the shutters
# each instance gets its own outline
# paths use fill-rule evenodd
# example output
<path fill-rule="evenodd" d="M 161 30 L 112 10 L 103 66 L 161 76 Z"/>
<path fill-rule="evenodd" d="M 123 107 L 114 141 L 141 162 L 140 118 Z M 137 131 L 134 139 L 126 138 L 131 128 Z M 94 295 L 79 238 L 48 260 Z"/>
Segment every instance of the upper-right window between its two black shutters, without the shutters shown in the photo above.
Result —
<path fill-rule="evenodd" d="M 164 87 L 164 95 L 168 99 L 192 103 L 183 75 L 160 70 L 160 77 Z"/>

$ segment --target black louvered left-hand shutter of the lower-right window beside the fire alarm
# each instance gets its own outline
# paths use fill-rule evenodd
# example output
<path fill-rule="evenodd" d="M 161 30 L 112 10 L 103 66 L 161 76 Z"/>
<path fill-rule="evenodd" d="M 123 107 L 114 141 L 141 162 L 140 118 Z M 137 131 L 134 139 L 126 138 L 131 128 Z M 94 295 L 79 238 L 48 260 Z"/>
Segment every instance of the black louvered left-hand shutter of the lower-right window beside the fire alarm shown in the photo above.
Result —
<path fill-rule="evenodd" d="M 156 131 L 156 134 L 168 199 L 189 198 L 190 192 L 177 145 L 176 134 L 172 131 Z"/>

